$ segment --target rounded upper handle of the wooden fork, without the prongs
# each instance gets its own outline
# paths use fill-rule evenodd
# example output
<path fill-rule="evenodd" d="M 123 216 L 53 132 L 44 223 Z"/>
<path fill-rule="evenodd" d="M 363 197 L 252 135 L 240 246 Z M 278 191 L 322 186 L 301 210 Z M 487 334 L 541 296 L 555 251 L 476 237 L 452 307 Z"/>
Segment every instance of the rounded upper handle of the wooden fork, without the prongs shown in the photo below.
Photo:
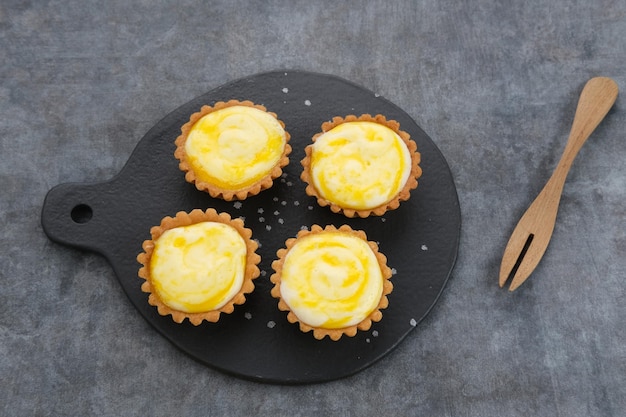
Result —
<path fill-rule="evenodd" d="M 578 151 L 591 133 L 604 119 L 617 99 L 617 83 L 607 77 L 592 78 L 580 93 L 576 114 L 572 122 L 567 144 L 550 181 L 560 183 L 562 188 Z"/>

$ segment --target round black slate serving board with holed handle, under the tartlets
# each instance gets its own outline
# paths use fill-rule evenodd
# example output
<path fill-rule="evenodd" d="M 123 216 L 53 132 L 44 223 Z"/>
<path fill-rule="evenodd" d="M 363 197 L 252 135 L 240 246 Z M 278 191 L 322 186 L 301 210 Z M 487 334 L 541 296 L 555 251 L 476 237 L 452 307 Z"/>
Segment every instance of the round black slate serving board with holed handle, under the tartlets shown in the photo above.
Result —
<path fill-rule="evenodd" d="M 283 177 L 258 196 L 225 202 L 184 181 L 174 140 L 204 104 L 252 100 L 278 114 L 293 152 Z M 308 197 L 300 180 L 304 147 L 333 116 L 384 114 L 400 122 L 422 154 L 423 176 L 411 199 L 381 217 L 347 219 Z M 97 155 L 94 155 L 97 158 Z M 260 242 L 262 275 L 243 306 L 218 323 L 198 327 L 161 317 L 140 289 L 136 256 L 150 227 L 177 211 L 213 207 L 244 217 Z M 318 341 L 286 320 L 270 296 L 276 250 L 302 226 L 347 223 L 364 230 L 394 268 L 394 291 L 383 319 L 356 337 Z M 426 316 L 456 260 L 461 215 L 449 167 L 430 138 L 404 111 L 374 92 L 323 74 L 281 71 L 253 75 L 216 88 L 174 110 L 139 142 L 122 171 L 94 184 L 61 184 L 49 191 L 42 225 L 53 241 L 95 251 L 113 266 L 137 310 L 182 351 L 221 371 L 271 383 L 313 383 L 354 374 L 385 356 Z M 98 308 L 94 305 L 94 308 Z M 129 317 L 132 320 L 132 317 Z"/>

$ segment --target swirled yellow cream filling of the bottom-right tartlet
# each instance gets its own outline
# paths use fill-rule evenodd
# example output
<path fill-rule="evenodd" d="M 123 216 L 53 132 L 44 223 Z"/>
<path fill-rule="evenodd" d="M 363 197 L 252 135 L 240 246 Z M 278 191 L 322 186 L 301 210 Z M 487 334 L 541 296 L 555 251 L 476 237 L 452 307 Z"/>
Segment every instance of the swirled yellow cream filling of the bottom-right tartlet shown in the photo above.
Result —
<path fill-rule="evenodd" d="M 339 329 L 378 306 L 383 275 L 376 255 L 356 236 L 324 231 L 299 238 L 285 257 L 280 293 L 298 319 Z"/>

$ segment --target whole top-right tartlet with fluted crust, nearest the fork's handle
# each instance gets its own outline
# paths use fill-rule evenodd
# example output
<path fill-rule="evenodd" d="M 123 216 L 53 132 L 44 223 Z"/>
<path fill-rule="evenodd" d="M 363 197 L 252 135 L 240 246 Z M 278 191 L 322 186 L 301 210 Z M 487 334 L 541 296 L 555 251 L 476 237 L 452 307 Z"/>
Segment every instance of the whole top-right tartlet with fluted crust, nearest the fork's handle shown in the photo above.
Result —
<path fill-rule="evenodd" d="M 305 153 L 306 193 L 346 217 L 381 216 L 398 208 L 422 175 L 417 144 L 397 121 L 380 114 L 323 123 Z"/>

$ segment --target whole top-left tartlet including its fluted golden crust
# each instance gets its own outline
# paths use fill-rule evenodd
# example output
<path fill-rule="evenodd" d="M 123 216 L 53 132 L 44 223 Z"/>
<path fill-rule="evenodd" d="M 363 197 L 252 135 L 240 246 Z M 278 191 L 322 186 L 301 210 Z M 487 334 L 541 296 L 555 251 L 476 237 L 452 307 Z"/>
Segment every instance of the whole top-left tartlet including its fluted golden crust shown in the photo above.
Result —
<path fill-rule="evenodd" d="M 174 156 L 185 180 L 212 197 L 243 200 L 270 188 L 289 163 L 290 135 L 251 101 L 202 106 L 181 127 Z"/>

